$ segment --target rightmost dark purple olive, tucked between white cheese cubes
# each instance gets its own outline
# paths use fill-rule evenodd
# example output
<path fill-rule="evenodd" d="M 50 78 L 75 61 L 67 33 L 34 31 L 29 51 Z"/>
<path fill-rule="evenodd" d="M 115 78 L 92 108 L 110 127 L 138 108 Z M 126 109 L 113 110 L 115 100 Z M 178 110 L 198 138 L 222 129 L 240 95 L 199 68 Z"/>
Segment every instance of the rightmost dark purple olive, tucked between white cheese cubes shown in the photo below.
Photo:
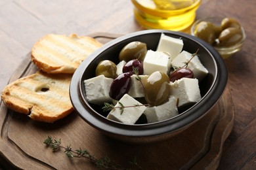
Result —
<path fill-rule="evenodd" d="M 177 69 L 177 70 L 173 71 L 169 75 L 169 79 L 170 79 L 171 82 L 175 82 L 175 80 L 179 80 L 183 77 L 194 78 L 194 73 L 193 73 L 193 71 L 191 71 L 188 68 L 180 68 L 180 69 Z"/>

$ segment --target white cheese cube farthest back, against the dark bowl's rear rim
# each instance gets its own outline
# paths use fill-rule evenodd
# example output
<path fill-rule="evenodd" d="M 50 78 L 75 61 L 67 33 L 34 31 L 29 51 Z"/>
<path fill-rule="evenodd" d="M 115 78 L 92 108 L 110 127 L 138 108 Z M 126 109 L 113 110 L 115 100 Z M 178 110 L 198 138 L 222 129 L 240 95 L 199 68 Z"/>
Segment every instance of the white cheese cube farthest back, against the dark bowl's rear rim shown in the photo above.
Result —
<path fill-rule="evenodd" d="M 174 58 L 176 58 L 176 56 L 178 56 L 178 54 L 181 53 L 182 48 L 182 39 L 175 39 L 162 33 L 156 51 L 169 53 L 172 61 Z"/>

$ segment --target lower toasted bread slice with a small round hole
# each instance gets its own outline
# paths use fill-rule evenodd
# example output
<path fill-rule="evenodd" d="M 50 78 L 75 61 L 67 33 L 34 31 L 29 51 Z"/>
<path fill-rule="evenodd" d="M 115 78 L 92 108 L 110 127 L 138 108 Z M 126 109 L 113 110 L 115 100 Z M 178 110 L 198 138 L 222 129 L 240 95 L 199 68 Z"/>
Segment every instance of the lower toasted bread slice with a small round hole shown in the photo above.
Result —
<path fill-rule="evenodd" d="M 71 78 L 70 74 L 39 71 L 7 85 L 1 97 L 16 112 L 28 114 L 33 120 L 54 122 L 74 110 L 69 95 Z"/>

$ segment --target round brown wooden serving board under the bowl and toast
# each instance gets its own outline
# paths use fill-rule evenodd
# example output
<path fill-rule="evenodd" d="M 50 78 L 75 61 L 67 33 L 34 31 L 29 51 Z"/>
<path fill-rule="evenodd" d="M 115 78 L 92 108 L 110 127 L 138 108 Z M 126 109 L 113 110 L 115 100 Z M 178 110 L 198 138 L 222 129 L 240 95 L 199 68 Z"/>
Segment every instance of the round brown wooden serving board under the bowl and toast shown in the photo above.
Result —
<path fill-rule="evenodd" d="M 119 35 L 95 33 L 100 42 Z M 10 82 L 35 73 L 30 54 L 20 63 Z M 160 143 L 129 144 L 106 137 L 75 112 L 53 124 L 35 122 L 24 114 L 0 106 L 0 160 L 19 169 L 96 169 L 85 158 L 68 158 L 64 150 L 52 152 L 43 141 L 48 136 L 61 139 L 64 146 L 86 148 L 96 158 L 108 156 L 127 167 L 136 156 L 143 169 L 217 169 L 223 143 L 234 124 L 234 108 L 228 89 L 217 105 L 196 124 Z M 128 167 L 130 167 L 128 165 Z"/>

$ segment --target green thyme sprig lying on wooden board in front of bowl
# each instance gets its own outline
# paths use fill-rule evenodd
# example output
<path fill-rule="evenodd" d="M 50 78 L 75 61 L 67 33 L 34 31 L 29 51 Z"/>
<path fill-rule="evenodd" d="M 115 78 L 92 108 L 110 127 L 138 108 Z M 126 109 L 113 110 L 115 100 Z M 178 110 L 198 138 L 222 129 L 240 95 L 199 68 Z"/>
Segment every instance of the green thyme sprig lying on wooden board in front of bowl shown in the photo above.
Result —
<path fill-rule="evenodd" d="M 116 161 L 111 160 L 107 156 L 97 159 L 86 149 L 82 150 L 81 148 L 79 148 L 77 150 L 72 150 L 71 145 L 66 147 L 62 146 L 61 139 L 56 140 L 48 136 L 43 143 L 46 146 L 50 146 L 53 152 L 56 152 L 61 148 L 64 149 L 64 153 L 66 154 L 66 156 L 68 156 L 68 158 L 86 158 L 96 167 L 105 168 L 105 169 L 128 169 L 125 167 L 121 167 L 121 165 L 117 164 Z M 137 163 L 136 157 L 133 158 L 133 160 L 128 161 L 128 163 L 130 165 L 134 165 L 142 169 L 142 167 L 140 167 L 140 165 Z"/>

